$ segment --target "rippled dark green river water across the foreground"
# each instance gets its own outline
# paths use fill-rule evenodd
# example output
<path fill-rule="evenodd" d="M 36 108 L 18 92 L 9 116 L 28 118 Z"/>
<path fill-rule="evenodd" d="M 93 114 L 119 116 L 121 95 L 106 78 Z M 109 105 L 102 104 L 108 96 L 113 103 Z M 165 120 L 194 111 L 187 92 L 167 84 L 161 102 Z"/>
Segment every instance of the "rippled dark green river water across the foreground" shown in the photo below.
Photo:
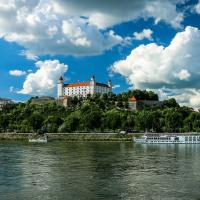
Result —
<path fill-rule="evenodd" d="M 0 142 L 0 200 L 200 199 L 200 144 Z"/>

